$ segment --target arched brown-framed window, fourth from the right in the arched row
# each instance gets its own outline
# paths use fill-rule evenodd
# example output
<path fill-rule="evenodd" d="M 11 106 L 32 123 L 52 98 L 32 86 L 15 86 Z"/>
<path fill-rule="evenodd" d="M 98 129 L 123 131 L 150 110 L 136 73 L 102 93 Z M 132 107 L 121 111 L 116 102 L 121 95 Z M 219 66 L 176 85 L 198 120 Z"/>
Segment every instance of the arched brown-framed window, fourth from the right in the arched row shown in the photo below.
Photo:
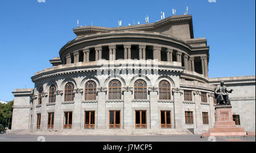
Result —
<path fill-rule="evenodd" d="M 85 83 L 85 100 L 96 100 L 96 83 L 93 80 Z"/>

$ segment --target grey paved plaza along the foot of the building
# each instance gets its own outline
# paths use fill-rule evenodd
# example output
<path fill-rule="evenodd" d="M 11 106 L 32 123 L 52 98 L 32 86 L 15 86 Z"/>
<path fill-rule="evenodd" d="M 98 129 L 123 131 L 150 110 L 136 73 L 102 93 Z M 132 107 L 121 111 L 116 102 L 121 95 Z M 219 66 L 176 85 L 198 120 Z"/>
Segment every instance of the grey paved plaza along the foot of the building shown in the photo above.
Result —
<path fill-rule="evenodd" d="M 0 134 L 0 142 L 211 142 L 201 135 L 13 135 Z M 222 137 L 216 142 L 255 142 L 255 137 Z"/>

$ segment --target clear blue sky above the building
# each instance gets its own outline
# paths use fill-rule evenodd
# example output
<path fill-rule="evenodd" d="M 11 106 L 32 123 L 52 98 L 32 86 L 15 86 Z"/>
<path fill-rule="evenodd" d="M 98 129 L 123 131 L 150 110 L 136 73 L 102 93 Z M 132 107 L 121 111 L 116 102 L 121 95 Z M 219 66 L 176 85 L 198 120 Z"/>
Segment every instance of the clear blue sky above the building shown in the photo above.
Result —
<path fill-rule="evenodd" d="M 51 67 L 49 59 L 75 39 L 72 28 L 80 25 L 117 27 L 134 21 L 150 23 L 160 12 L 192 15 L 194 37 L 205 37 L 210 46 L 209 77 L 255 75 L 254 0 L 86 0 L 0 1 L 1 100 L 13 100 L 15 88 L 34 88 L 31 76 Z M 41 1 L 41 0 L 40 0 Z M 209 0 L 213 1 L 213 0 Z"/>

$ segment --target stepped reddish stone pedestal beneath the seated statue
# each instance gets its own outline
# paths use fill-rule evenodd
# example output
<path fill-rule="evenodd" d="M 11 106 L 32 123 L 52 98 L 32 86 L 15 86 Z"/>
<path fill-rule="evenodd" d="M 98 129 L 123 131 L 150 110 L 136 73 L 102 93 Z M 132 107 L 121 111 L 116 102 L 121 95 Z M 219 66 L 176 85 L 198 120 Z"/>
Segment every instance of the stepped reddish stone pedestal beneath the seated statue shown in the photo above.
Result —
<path fill-rule="evenodd" d="M 245 128 L 237 127 L 233 121 L 231 105 L 216 106 L 216 122 L 209 133 L 202 133 L 203 137 L 209 136 L 246 136 Z"/>

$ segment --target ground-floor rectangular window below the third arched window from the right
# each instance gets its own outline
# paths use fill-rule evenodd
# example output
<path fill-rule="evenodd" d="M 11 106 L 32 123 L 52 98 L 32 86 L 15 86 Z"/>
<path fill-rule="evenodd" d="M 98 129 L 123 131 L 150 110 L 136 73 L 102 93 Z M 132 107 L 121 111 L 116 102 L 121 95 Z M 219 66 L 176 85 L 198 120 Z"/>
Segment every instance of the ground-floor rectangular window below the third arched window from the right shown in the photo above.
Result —
<path fill-rule="evenodd" d="M 119 129 L 120 124 L 120 111 L 109 111 L 109 128 L 110 129 Z"/>

